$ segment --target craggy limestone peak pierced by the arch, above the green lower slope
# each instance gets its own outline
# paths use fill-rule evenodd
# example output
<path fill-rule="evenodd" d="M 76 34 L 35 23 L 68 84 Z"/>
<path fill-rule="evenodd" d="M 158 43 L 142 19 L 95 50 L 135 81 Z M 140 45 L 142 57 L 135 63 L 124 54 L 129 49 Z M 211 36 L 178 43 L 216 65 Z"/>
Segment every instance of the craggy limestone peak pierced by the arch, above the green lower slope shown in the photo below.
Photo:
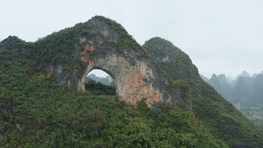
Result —
<path fill-rule="evenodd" d="M 12 40 L 19 40 L 13 49 Z M 15 55 L 33 58 L 34 63 L 53 75 L 73 92 L 85 91 L 86 75 L 93 69 L 110 74 L 120 100 L 136 104 L 147 98 L 149 106 L 160 102 L 191 110 L 191 92 L 182 80 L 169 78 L 147 52 L 118 23 L 96 16 L 34 43 L 8 37 L 3 46 Z"/>

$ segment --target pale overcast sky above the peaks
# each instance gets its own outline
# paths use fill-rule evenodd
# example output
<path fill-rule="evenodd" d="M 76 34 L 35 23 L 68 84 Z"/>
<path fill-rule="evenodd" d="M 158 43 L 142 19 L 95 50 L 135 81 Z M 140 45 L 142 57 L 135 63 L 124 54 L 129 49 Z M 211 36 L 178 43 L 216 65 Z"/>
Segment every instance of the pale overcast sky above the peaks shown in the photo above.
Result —
<path fill-rule="evenodd" d="M 35 41 L 95 15 L 121 23 L 140 44 L 170 40 L 207 77 L 263 70 L 263 0 L 1 0 L 0 40 Z"/>

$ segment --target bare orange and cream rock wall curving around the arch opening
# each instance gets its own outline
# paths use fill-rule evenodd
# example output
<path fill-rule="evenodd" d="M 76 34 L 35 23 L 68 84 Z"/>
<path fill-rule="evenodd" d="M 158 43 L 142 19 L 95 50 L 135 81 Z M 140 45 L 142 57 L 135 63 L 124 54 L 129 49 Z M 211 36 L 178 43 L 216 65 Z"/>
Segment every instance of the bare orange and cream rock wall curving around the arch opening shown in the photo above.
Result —
<path fill-rule="evenodd" d="M 116 93 L 121 100 L 132 104 L 142 98 L 148 98 L 149 103 L 163 101 L 161 92 L 151 84 L 154 78 L 152 70 L 143 61 L 135 61 L 135 65 L 130 65 L 122 56 L 105 55 L 104 58 L 95 58 L 87 64 L 78 85 L 79 91 L 85 90 L 86 75 L 94 69 L 103 70 L 113 77 Z"/>

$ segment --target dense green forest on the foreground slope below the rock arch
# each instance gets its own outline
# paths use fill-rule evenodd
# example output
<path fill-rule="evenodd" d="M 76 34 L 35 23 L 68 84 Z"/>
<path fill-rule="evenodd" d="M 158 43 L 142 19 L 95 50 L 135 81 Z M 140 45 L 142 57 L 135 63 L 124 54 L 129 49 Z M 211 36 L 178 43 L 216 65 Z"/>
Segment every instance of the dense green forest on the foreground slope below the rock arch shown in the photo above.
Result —
<path fill-rule="evenodd" d="M 227 148 L 192 112 L 73 94 L 0 49 L 1 148 Z"/>

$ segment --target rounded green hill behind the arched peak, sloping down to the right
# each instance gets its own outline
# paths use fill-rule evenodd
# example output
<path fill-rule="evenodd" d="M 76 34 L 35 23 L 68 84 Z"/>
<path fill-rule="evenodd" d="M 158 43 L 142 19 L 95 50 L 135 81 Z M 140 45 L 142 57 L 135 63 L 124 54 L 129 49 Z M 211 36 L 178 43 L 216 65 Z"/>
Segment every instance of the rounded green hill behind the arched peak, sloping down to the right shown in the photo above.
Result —
<path fill-rule="evenodd" d="M 213 136 L 231 148 L 263 146 L 262 130 L 199 76 L 187 54 L 160 37 L 151 38 L 143 47 L 172 79 L 184 79 L 190 84 L 194 114 Z"/>

